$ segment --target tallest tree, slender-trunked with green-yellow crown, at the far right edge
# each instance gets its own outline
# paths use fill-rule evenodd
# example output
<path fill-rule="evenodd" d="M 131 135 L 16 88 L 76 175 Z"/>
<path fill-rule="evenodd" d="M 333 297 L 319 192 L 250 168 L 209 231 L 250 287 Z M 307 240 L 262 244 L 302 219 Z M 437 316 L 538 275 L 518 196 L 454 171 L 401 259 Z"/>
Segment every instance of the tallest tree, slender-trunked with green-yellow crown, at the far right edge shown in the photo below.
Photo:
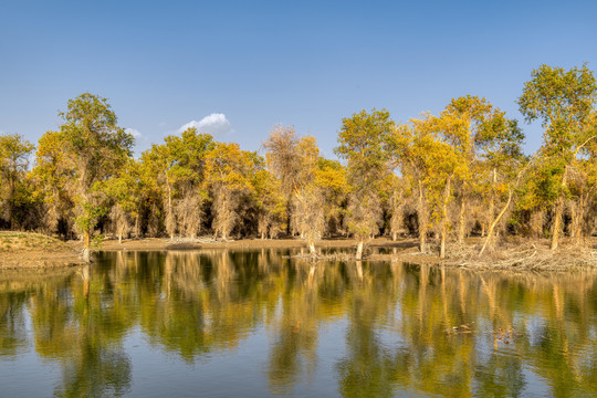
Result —
<path fill-rule="evenodd" d="M 551 244 L 551 249 L 556 250 L 566 196 L 569 195 L 570 172 L 596 137 L 597 83 L 587 65 L 569 71 L 542 65 L 531 76 L 519 105 L 526 122 L 541 119 L 545 128 L 543 154 L 546 161 L 554 165 L 552 174 L 559 179 Z"/>

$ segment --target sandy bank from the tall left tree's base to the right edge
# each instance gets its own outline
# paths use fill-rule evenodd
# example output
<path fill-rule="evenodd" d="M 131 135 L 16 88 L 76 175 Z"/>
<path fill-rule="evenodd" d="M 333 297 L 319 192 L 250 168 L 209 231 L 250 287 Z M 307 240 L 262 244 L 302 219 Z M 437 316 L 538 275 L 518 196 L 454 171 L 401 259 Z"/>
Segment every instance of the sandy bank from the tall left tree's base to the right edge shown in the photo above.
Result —
<path fill-rule="evenodd" d="M 420 253 L 417 238 L 400 238 L 392 241 L 388 238 L 376 238 L 365 243 L 366 255 L 363 261 L 369 262 L 405 262 L 420 265 L 441 265 L 452 269 L 468 270 L 495 270 L 495 271 L 593 271 L 597 270 L 597 250 L 593 247 L 597 239 L 591 239 L 587 247 L 579 247 L 572 241 L 564 241 L 555 252 L 549 250 L 549 241 L 543 240 L 517 240 L 512 239 L 500 245 L 493 253 L 486 253 L 482 258 L 478 252 L 482 244 L 480 238 L 467 239 L 465 245 L 450 244 L 450 252 L 454 255 L 440 259 L 433 253 Z M 350 238 L 325 239 L 315 243 L 317 251 L 321 249 L 354 249 L 357 242 Z M 433 244 L 430 244 L 433 247 Z M 148 238 L 140 240 L 126 240 L 122 244 L 117 240 L 105 241 L 98 249 L 101 251 L 170 251 L 170 250 L 201 250 L 201 249 L 232 249 L 232 250 L 259 250 L 259 249 L 306 249 L 306 243 L 301 239 L 242 239 L 230 241 L 214 241 L 212 239 L 180 239 L 171 241 L 167 238 Z M 379 251 L 391 253 L 379 253 Z M 367 254 L 367 252 L 369 252 Z M 308 254 L 303 255 L 308 259 Z M 332 255 L 331 259 L 338 258 Z M 341 260 L 356 261 L 349 254 L 341 255 Z M 325 255 L 315 260 L 326 260 Z"/>

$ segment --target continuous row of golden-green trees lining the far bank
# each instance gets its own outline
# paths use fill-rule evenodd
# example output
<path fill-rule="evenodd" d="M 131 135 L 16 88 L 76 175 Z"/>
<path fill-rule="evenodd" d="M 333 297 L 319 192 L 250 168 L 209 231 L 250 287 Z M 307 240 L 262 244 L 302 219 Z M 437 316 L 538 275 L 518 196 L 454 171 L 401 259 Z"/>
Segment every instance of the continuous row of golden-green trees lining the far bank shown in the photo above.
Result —
<path fill-rule="evenodd" d="M 597 83 L 586 65 L 533 71 L 519 98 L 541 121 L 543 145 L 522 151 L 516 121 L 485 98 L 452 100 L 439 115 L 406 124 L 386 111 L 344 118 L 335 153 L 275 126 L 264 156 L 195 128 L 154 144 L 138 159 L 134 137 L 105 98 L 83 94 L 35 147 L 0 136 L 0 227 L 65 239 L 97 234 L 221 239 L 323 237 L 363 244 L 417 234 L 421 252 L 507 234 L 576 241 L 590 237 L 597 209 Z M 29 159 L 34 154 L 33 167 Z M 432 241 L 430 241 L 432 239 Z M 433 248 L 430 248 L 433 243 Z"/>

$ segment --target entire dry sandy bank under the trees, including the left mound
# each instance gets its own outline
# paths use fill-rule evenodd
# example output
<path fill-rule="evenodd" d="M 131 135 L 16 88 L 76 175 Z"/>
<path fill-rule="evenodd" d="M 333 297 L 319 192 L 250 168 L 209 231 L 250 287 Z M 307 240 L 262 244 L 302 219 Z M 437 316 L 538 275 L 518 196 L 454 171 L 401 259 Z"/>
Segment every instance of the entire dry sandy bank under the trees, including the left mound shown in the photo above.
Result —
<path fill-rule="evenodd" d="M 7 243 L 9 242 L 9 243 Z M 363 261 L 368 262 L 405 262 L 421 265 L 442 265 L 453 269 L 500 270 L 500 271 L 584 271 L 597 270 L 597 251 L 593 250 L 593 239 L 587 247 L 574 245 L 570 242 L 558 251 L 548 250 L 547 240 L 519 241 L 503 243 L 489 255 L 476 255 L 481 239 L 470 238 L 467 244 L 453 244 L 450 252 L 454 255 L 440 259 L 433 253 L 420 253 L 418 239 L 401 238 L 392 241 L 377 238 L 366 242 Z M 350 238 L 321 240 L 315 248 L 355 249 L 357 242 Z M 430 244 L 430 247 L 433 247 Z M 306 249 L 301 239 L 241 239 L 217 241 L 211 238 L 175 239 L 144 238 L 126 239 L 118 243 L 116 239 L 102 242 L 92 251 L 192 251 L 202 249 L 260 250 L 260 249 Z M 57 239 L 32 232 L 0 232 L 0 270 L 53 269 L 83 265 L 81 241 L 63 242 Z M 305 259 L 308 254 L 305 253 Z M 356 261 L 349 253 L 329 256 L 331 260 Z M 322 256 L 316 260 L 326 260 Z"/>

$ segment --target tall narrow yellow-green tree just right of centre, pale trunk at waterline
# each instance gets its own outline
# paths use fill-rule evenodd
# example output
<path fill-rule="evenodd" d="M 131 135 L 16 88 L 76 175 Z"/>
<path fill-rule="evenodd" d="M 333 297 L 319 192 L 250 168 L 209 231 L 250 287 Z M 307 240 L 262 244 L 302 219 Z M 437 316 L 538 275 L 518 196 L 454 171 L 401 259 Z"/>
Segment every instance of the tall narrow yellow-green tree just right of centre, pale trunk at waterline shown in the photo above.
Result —
<path fill-rule="evenodd" d="M 336 154 L 347 160 L 348 230 L 357 240 L 358 260 L 363 256 L 365 240 L 379 232 L 383 221 L 379 184 L 389 172 L 388 142 L 395 123 L 389 113 L 362 111 L 342 121 Z"/>

